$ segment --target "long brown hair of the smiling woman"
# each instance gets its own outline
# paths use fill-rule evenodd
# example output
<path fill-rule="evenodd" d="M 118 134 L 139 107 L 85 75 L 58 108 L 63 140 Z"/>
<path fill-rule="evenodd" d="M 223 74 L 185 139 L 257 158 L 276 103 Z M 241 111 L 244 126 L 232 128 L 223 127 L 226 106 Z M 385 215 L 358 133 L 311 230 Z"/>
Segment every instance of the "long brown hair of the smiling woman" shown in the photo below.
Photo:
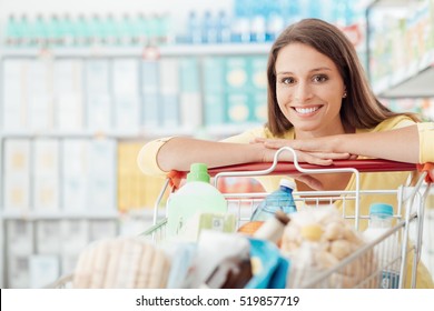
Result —
<path fill-rule="evenodd" d="M 411 113 L 395 113 L 378 101 L 369 87 L 356 50 L 337 27 L 319 19 L 304 19 L 286 28 L 276 39 L 269 52 L 267 127 L 274 136 L 280 137 L 293 127 L 277 103 L 275 64 L 280 49 L 295 42 L 314 48 L 336 64 L 347 93 L 341 108 L 341 119 L 344 126 L 367 129 L 377 126 L 387 118 L 402 114 L 417 120 Z"/>

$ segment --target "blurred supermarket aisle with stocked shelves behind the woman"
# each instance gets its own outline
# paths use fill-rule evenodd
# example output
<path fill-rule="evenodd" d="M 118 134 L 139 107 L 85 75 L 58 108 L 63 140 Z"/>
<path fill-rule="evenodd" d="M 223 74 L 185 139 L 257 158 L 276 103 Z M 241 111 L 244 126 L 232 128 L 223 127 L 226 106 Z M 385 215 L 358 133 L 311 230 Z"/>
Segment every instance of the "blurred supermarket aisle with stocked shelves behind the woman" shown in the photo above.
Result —
<path fill-rule="evenodd" d="M 264 122 L 270 42 L 305 17 L 344 29 L 391 108 L 434 119 L 433 0 L 0 0 L 1 288 L 147 228 L 161 181 L 140 146 Z"/>

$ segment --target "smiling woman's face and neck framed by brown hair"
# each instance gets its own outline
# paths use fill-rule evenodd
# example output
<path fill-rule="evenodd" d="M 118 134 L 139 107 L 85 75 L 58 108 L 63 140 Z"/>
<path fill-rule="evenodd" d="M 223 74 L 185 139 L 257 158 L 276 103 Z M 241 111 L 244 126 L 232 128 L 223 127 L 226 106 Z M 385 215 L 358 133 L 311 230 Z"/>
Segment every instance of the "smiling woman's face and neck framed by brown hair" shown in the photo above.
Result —
<path fill-rule="evenodd" d="M 344 133 L 339 110 L 345 86 L 332 59 L 290 43 L 280 49 L 275 67 L 277 102 L 297 138 Z"/>

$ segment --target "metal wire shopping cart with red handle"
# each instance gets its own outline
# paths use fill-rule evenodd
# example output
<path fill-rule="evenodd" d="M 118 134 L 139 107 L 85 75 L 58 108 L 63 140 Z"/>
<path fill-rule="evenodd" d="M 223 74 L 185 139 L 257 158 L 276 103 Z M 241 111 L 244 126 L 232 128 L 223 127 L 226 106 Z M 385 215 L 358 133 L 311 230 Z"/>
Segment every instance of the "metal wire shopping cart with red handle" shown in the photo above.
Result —
<path fill-rule="evenodd" d="M 292 152 L 294 162 L 279 162 L 282 152 Z M 400 172 L 411 171 L 406 184 L 397 189 L 363 190 L 361 189 L 361 173 L 365 172 Z M 319 271 L 314 278 L 299 284 L 300 288 L 378 288 L 393 287 L 404 288 L 406 284 L 415 288 L 417 265 L 421 259 L 424 202 L 430 191 L 427 172 L 420 170 L 414 174 L 416 165 L 411 163 L 387 161 L 387 160 L 352 160 L 335 161 L 333 167 L 318 167 L 307 163 L 300 165 L 295 151 L 290 148 L 282 148 L 275 154 L 273 163 L 254 163 L 228 165 L 218 169 L 210 169 L 217 187 L 224 178 L 246 178 L 262 175 L 292 175 L 292 174 L 323 174 L 323 173 L 353 173 L 355 189 L 347 191 L 295 191 L 294 198 L 297 205 L 320 207 L 324 203 L 334 204 L 339 201 L 342 204 L 342 217 L 354 222 L 355 230 L 361 230 L 361 221 L 367 221 L 368 214 L 361 212 L 361 198 L 365 195 L 393 195 L 396 198 L 397 207 L 394 214 L 395 225 L 378 239 L 359 248 L 356 252 L 346 257 L 338 264 Z M 161 192 L 159 193 L 154 208 L 154 225 L 145 235 L 154 242 L 161 243 L 166 239 L 167 219 L 164 213 L 164 198 L 172 192 L 187 172 L 171 172 Z M 414 181 L 416 180 L 416 181 Z M 253 211 L 268 193 L 224 193 L 229 212 L 236 214 L 237 227 L 239 228 L 249 221 Z M 355 207 L 354 213 L 348 213 L 346 205 Z M 412 239 L 411 239 L 412 238 Z M 389 241 L 397 241 L 395 249 L 391 250 Z M 397 249 L 396 249 L 397 248 Z M 379 261 L 382 258 L 382 261 Z M 386 260 L 385 260 L 386 259 Z M 394 279 L 393 284 L 379 284 L 378 280 L 384 271 L 392 267 L 398 267 L 400 278 Z M 410 274 L 407 272 L 410 270 Z M 410 278 L 410 279 L 408 279 Z M 406 283 L 406 280 L 410 282 Z"/>

